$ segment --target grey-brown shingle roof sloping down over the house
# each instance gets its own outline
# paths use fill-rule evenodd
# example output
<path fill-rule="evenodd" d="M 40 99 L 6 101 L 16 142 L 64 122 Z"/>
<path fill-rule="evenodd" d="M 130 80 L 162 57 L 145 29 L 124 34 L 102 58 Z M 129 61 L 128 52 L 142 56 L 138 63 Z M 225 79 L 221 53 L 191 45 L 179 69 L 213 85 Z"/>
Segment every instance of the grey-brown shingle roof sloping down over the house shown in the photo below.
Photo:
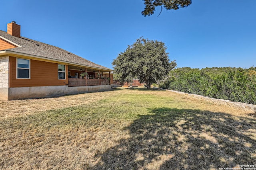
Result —
<path fill-rule="evenodd" d="M 73 53 L 70 53 L 64 49 L 61 49 L 59 47 L 55 47 L 52 45 L 48 45 L 46 43 L 41 43 L 39 41 L 35 41 L 32 39 L 28 39 L 26 37 L 15 37 L 12 35 L 9 35 L 5 31 L 0 30 L 0 36 L 8 39 L 9 41 L 12 41 L 13 43 L 16 43 L 20 45 L 21 47 L 16 47 L 12 49 L 6 49 L 6 51 L 13 51 L 17 53 L 23 53 L 28 55 L 34 55 L 38 57 L 45 57 L 47 59 L 54 59 L 84 66 L 91 66 L 93 68 L 101 68 L 104 70 L 111 71 L 112 69 L 101 66 L 96 63 L 92 63 L 91 61 L 88 61 L 82 57 L 79 57 L 78 55 L 75 55 Z"/>

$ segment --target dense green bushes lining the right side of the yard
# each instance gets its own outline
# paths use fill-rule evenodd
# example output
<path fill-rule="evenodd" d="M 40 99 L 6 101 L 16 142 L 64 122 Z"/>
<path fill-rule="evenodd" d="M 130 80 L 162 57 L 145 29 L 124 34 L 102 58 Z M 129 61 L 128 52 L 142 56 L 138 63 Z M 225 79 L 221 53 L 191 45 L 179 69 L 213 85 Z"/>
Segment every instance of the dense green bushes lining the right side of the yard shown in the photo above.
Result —
<path fill-rule="evenodd" d="M 159 87 L 210 98 L 256 104 L 256 68 L 176 68 L 160 82 Z"/>

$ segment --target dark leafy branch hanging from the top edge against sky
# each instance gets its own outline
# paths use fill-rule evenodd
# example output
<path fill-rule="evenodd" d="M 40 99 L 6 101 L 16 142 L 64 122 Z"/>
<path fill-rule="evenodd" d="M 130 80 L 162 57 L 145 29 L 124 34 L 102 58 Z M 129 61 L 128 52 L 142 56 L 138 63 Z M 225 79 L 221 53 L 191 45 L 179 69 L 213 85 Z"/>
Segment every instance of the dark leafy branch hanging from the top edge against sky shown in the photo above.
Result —
<path fill-rule="evenodd" d="M 178 10 L 179 8 L 188 7 L 192 4 L 192 0 L 144 0 L 145 9 L 141 12 L 142 15 L 150 16 L 154 14 L 157 6 L 162 6 L 166 10 Z"/>

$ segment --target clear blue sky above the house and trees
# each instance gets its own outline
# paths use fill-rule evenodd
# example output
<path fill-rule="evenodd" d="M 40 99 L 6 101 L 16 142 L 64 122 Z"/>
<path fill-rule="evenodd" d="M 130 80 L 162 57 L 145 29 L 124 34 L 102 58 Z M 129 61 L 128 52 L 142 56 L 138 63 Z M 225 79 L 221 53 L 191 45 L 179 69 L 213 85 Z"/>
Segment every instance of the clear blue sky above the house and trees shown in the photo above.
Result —
<path fill-rule="evenodd" d="M 187 8 L 158 16 L 159 7 L 146 18 L 143 2 L 5 0 L 0 30 L 16 21 L 21 36 L 108 68 L 142 36 L 164 42 L 177 67 L 256 66 L 256 0 L 192 0 Z"/>

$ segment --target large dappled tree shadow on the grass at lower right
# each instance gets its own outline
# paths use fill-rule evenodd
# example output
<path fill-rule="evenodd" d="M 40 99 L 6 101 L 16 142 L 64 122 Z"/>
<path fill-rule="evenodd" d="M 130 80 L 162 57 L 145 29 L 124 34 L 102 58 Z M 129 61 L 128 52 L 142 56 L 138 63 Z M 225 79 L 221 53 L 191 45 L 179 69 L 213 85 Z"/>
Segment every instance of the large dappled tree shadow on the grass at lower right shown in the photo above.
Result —
<path fill-rule="evenodd" d="M 256 164 L 256 121 L 191 109 L 149 109 L 130 137 L 89 169 L 218 169 Z"/>

